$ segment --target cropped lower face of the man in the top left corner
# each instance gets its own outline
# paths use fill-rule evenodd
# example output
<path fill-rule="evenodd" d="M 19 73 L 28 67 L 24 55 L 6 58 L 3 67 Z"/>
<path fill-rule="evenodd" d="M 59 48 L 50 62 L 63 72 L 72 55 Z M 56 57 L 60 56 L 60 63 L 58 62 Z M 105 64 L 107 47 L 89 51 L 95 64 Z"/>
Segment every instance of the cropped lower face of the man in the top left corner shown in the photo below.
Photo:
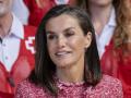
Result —
<path fill-rule="evenodd" d="M 3 16 L 10 12 L 13 0 L 0 0 L 0 16 Z"/>

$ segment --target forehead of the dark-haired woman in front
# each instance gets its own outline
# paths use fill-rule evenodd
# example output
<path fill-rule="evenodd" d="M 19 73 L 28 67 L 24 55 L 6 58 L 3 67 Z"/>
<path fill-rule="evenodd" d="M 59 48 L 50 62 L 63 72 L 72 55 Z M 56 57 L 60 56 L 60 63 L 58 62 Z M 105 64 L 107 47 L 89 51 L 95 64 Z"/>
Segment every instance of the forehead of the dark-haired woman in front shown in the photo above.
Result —
<path fill-rule="evenodd" d="M 51 17 L 46 24 L 46 30 L 64 29 L 67 27 L 80 27 L 78 19 L 69 14 L 61 14 L 59 16 Z"/>

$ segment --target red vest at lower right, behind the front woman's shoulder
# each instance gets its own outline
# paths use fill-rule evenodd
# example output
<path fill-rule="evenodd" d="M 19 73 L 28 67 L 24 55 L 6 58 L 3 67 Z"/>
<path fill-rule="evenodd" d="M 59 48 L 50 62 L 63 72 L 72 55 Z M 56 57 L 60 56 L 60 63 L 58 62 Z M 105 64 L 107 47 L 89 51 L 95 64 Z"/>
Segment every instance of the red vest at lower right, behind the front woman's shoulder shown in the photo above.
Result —
<path fill-rule="evenodd" d="M 131 52 L 126 51 L 126 46 L 112 49 L 112 42 L 110 42 L 100 62 L 104 73 L 122 82 L 124 98 L 131 98 Z"/>

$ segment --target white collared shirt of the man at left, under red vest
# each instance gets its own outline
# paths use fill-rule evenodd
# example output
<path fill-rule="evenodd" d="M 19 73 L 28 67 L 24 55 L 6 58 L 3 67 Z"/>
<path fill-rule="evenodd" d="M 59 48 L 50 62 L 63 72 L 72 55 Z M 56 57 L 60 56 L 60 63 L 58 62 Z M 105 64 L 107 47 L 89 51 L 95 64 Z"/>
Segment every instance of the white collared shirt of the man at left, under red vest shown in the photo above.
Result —
<path fill-rule="evenodd" d="M 19 57 L 21 39 L 24 39 L 24 28 L 19 19 L 13 14 L 11 30 L 0 42 L 0 62 L 8 71 L 11 70 Z"/>

